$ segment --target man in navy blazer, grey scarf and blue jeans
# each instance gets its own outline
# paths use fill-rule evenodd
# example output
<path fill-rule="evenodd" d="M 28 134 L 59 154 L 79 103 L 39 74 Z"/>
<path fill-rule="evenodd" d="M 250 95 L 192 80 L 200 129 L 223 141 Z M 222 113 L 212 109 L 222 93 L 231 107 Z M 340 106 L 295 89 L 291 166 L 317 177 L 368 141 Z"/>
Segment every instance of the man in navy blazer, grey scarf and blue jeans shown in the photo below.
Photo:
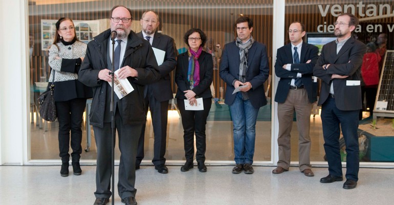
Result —
<path fill-rule="evenodd" d="M 236 166 L 233 173 L 244 170 L 246 174 L 252 174 L 257 113 L 267 104 L 264 82 L 269 67 L 265 45 L 251 35 L 253 20 L 239 17 L 236 30 L 237 39 L 224 47 L 219 75 L 227 84 L 224 102 L 230 107 L 234 125 Z M 240 88 L 240 92 L 233 94 L 236 88 Z"/>

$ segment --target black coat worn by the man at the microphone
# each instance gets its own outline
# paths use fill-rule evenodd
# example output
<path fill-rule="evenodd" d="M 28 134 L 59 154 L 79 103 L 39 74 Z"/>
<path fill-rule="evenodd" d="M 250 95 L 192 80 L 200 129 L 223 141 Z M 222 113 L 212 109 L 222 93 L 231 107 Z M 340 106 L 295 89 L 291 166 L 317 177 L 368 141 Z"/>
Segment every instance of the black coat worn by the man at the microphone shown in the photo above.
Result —
<path fill-rule="evenodd" d="M 92 108 L 89 114 L 90 124 L 103 127 L 105 111 L 109 111 L 106 103 L 108 82 L 98 80 L 98 73 L 109 68 L 107 53 L 111 30 L 102 32 L 88 43 L 86 57 L 81 64 L 78 80 L 87 86 L 93 87 Z M 144 115 L 144 85 L 153 83 L 160 78 L 158 65 L 151 45 L 148 41 L 139 38 L 133 31 L 130 32 L 125 56 L 121 66 L 129 65 L 137 70 L 138 78 L 127 78 L 134 91 L 122 99 L 117 99 L 120 115 L 124 124 L 145 123 Z M 116 95 L 115 95 L 115 98 Z M 108 114 L 108 113 L 107 113 Z"/>

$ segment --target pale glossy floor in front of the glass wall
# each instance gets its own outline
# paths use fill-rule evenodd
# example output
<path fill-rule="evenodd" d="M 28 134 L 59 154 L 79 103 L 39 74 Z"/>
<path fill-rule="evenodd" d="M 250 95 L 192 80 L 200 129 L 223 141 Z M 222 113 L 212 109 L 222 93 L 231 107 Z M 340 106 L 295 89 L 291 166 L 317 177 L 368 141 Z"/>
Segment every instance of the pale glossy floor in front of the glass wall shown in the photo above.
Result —
<path fill-rule="evenodd" d="M 254 166 L 254 174 L 232 174 L 232 166 L 209 166 L 181 172 L 168 166 L 159 174 L 153 166 L 137 170 L 136 199 L 144 205 L 189 204 L 392 204 L 392 169 L 361 168 L 356 189 L 345 190 L 343 181 L 321 184 L 327 168 L 314 168 L 306 177 L 297 167 L 272 174 L 273 167 Z M 0 166 L 1 204 L 93 204 L 95 166 L 82 166 L 82 175 L 61 177 L 60 166 Z M 70 170 L 71 171 L 71 170 Z M 118 167 L 115 167 L 117 173 Z M 117 194 L 115 174 L 114 204 L 123 204 Z M 111 201 L 110 203 L 111 204 Z"/>

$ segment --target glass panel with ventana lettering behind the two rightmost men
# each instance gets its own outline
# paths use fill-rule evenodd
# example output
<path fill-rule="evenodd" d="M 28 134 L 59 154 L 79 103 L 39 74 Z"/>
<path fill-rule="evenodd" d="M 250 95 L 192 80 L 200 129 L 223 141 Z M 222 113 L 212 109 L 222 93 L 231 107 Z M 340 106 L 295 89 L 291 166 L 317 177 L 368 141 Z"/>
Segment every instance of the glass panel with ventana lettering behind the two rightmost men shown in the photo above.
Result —
<path fill-rule="evenodd" d="M 305 24 L 306 35 L 304 41 L 316 44 L 319 49 L 326 42 L 335 39 L 333 35 L 336 21 L 340 13 L 355 14 L 359 20 L 360 25 L 356 28 L 353 37 L 362 41 L 363 43 L 371 43 L 377 49 L 375 53 L 381 55 L 381 62 L 379 70 L 382 71 L 384 61 L 384 50 L 391 50 L 394 36 L 391 34 L 394 17 L 393 17 L 392 1 L 285 1 L 285 39 L 284 44 L 289 43 L 287 30 L 291 22 L 301 21 Z M 383 34 L 383 35 L 382 35 Z M 385 35 L 386 34 L 386 35 Z M 386 37 L 382 39 L 382 37 Z M 387 39 L 386 45 L 384 41 Z M 373 46 L 372 46 L 373 47 Z M 382 53 L 380 53 L 382 52 Z M 368 65 L 368 61 L 363 61 L 363 66 Z M 389 60 L 390 61 L 390 60 Z M 378 65 L 376 65 L 378 66 Z M 387 69 L 389 69 L 387 67 Z M 371 125 L 373 118 L 371 112 L 376 107 L 376 90 L 381 89 L 378 84 L 370 84 L 366 82 L 367 75 L 362 75 L 360 70 L 360 77 L 363 90 L 363 110 L 360 111 L 360 126 L 359 126 L 359 142 L 360 142 L 360 161 L 361 162 L 394 162 L 394 154 L 392 147 L 394 145 L 394 138 L 392 137 L 392 118 L 394 117 L 392 111 L 375 112 L 378 116 L 376 127 L 373 129 Z M 382 78 L 382 76 L 381 76 Z M 364 82 L 363 82 L 364 81 Z M 368 79 L 367 79 L 368 81 Z M 392 81 L 391 81 L 392 82 Z M 383 87 L 382 87 L 383 88 Z M 319 87 L 320 89 L 320 87 Z M 318 89 L 318 90 L 319 90 Z M 384 89 L 384 88 L 383 88 Z M 375 93 L 374 93 L 375 90 Z M 371 94 L 372 92 L 372 94 Z M 361 99 L 360 99 L 361 100 Z M 387 101 L 389 99 L 381 99 L 380 101 Z M 379 100 L 378 100 L 379 101 Z M 374 105 L 375 104 L 375 105 Z M 310 117 L 310 137 L 312 139 L 312 150 L 310 153 L 311 161 L 324 161 L 324 140 L 322 133 L 322 124 L 320 118 L 320 111 L 317 105 L 315 107 L 315 114 Z M 386 115 L 387 114 L 387 115 Z M 381 116 L 386 116 L 382 118 Z M 385 131 L 383 131 L 385 130 Z M 298 161 L 298 131 L 297 124 L 293 122 L 292 130 L 292 161 Z M 346 153 L 344 151 L 344 142 L 341 134 L 341 157 L 346 160 Z"/>

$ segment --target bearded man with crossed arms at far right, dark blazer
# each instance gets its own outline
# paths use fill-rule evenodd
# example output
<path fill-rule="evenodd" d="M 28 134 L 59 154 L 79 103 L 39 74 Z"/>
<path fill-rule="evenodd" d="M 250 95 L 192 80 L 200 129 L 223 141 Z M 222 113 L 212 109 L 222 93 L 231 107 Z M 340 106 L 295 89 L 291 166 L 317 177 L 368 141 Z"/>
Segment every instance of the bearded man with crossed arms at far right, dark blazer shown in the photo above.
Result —
<path fill-rule="evenodd" d="M 328 176 L 321 183 L 342 181 L 339 136 L 342 129 L 346 145 L 346 182 L 344 189 L 357 186 L 359 172 L 359 110 L 361 106 L 360 74 L 358 70 L 366 51 L 365 45 L 352 38 L 358 18 L 344 13 L 334 22 L 337 40 L 325 44 L 314 67 L 314 75 L 322 80 L 318 105 L 322 105 L 324 150 L 328 161 Z M 341 126 L 341 129 L 340 129 Z"/>

